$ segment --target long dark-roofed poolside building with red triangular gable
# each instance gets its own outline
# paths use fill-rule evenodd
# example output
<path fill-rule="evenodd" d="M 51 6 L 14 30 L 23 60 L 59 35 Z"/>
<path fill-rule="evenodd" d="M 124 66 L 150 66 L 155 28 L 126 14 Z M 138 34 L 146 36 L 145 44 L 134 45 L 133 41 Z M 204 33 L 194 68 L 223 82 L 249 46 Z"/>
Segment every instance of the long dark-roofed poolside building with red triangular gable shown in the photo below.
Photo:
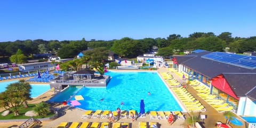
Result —
<path fill-rule="evenodd" d="M 174 55 L 173 67 L 226 98 L 239 116 L 256 117 L 256 57 L 195 50 Z"/>

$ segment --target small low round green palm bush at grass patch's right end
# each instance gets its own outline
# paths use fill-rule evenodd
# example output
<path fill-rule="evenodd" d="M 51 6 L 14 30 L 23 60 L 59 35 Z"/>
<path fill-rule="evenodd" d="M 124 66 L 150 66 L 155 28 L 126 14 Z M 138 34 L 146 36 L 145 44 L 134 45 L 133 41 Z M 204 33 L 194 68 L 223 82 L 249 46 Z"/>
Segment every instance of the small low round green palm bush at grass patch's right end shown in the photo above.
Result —
<path fill-rule="evenodd" d="M 37 113 L 37 115 L 46 116 L 51 113 L 50 107 L 51 105 L 49 105 L 48 103 L 40 102 L 33 108 L 33 110 L 35 111 L 35 113 Z"/>

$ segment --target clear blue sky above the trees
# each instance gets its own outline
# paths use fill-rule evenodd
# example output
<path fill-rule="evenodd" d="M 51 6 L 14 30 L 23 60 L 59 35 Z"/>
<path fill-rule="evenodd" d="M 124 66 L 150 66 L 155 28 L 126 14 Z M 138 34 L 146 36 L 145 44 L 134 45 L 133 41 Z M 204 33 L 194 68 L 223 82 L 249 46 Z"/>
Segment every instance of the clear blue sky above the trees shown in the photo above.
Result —
<path fill-rule="evenodd" d="M 111 40 L 188 37 L 228 31 L 256 36 L 256 1 L 0 1 L 0 42 L 17 39 Z"/>

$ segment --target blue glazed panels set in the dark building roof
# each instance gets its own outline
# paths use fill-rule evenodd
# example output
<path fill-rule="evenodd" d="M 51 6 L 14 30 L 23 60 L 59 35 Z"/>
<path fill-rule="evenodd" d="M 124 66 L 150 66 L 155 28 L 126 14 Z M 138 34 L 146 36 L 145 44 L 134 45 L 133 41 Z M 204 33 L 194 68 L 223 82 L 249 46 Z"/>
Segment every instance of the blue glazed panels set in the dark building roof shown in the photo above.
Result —
<path fill-rule="evenodd" d="M 202 55 L 202 58 L 228 63 L 230 65 L 238 67 L 244 67 L 249 69 L 256 68 L 256 57 L 254 56 L 239 55 L 225 52 L 212 52 L 209 54 Z"/>

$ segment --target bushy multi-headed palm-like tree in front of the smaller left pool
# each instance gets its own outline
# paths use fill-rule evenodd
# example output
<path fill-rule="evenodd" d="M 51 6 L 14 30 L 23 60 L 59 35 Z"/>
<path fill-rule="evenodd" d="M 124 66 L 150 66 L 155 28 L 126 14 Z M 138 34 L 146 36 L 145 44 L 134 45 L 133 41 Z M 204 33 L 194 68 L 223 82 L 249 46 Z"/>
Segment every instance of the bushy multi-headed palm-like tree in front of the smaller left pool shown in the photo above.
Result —
<path fill-rule="evenodd" d="M 25 81 L 9 84 L 6 90 L 0 93 L 0 107 L 13 111 L 14 116 L 19 115 L 23 102 L 30 98 L 31 86 Z"/>

